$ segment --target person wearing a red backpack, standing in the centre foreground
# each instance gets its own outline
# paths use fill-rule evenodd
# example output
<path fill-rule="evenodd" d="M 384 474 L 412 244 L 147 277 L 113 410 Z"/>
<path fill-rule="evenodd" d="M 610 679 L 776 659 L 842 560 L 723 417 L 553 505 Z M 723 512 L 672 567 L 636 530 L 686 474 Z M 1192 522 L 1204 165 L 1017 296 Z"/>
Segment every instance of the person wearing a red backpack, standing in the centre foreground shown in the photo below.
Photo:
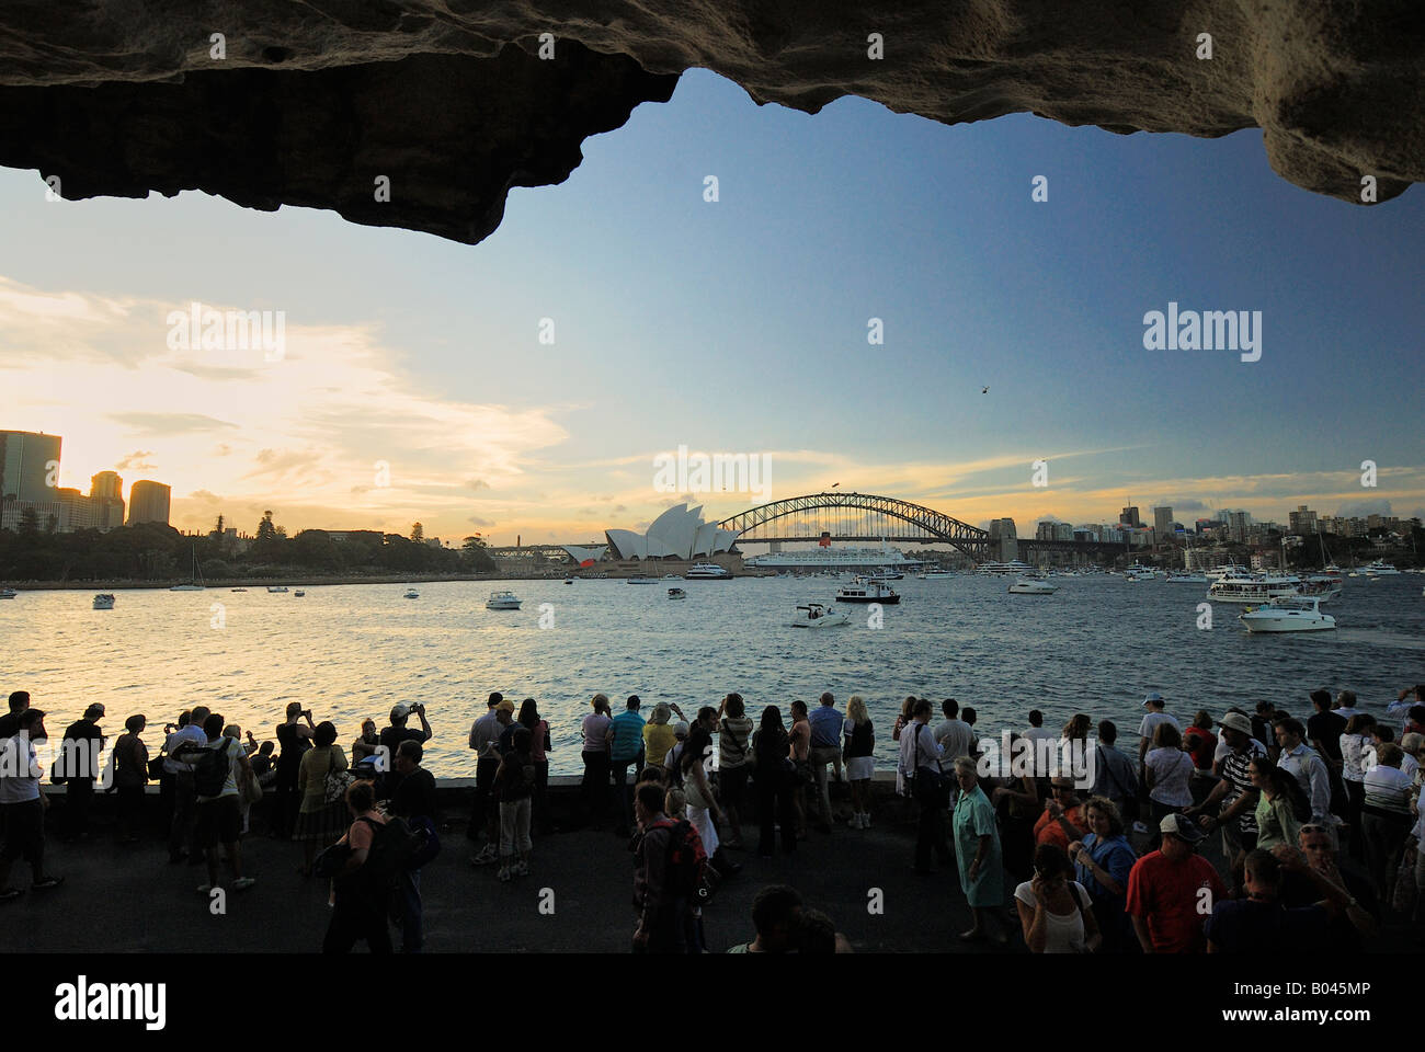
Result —
<path fill-rule="evenodd" d="M 637 954 L 688 954 L 697 949 L 693 905 L 707 875 L 707 854 L 688 821 L 664 814 L 664 790 L 654 783 L 638 785 L 634 815 L 643 837 L 634 854 L 633 934 Z"/>

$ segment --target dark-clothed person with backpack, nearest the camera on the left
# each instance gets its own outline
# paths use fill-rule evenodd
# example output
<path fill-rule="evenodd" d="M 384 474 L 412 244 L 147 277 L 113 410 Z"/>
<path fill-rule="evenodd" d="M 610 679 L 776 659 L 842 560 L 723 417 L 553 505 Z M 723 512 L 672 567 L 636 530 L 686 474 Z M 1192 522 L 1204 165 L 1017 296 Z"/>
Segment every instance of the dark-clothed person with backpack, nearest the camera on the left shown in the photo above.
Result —
<path fill-rule="evenodd" d="M 322 939 L 323 954 L 349 954 L 365 941 L 372 954 L 389 954 L 390 929 L 386 907 L 390 880 L 386 870 L 389 850 L 385 838 L 388 820 L 376 810 L 376 791 L 369 781 L 353 781 L 346 788 L 351 828 L 332 851 L 345 848 L 341 868 L 333 874 L 336 905 Z M 322 855 L 326 858 L 326 854 Z"/>

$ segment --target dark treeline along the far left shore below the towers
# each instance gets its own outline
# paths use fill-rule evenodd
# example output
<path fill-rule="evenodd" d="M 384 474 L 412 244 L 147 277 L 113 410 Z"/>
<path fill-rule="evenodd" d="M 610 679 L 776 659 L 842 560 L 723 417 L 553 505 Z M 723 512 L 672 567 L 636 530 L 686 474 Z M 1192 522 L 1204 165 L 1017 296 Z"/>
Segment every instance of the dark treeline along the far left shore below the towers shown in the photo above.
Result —
<path fill-rule="evenodd" d="M 28 527 L 27 527 L 28 526 Z M 358 535 L 332 540 L 326 530 L 294 537 L 262 516 L 254 540 L 222 536 L 222 519 L 207 536 L 184 536 L 172 526 L 140 523 L 107 532 L 57 533 L 21 523 L 0 530 L 0 582 L 26 580 L 187 580 L 192 557 L 205 579 L 279 577 L 288 573 L 487 573 L 494 562 L 479 537 L 456 549 L 425 543 L 420 523 L 412 536 Z"/>

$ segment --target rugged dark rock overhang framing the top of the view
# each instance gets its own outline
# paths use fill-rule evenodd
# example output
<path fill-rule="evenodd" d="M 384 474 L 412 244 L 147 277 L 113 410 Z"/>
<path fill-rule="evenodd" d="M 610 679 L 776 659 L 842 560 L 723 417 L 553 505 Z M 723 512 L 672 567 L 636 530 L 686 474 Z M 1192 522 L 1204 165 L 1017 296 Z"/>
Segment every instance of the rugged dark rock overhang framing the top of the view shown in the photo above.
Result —
<path fill-rule="evenodd" d="M 475 244 L 705 67 L 807 113 L 1260 127 L 1282 178 L 1361 204 L 1425 178 L 1422 56 L 1421 0 L 6 0 L 0 165 Z"/>

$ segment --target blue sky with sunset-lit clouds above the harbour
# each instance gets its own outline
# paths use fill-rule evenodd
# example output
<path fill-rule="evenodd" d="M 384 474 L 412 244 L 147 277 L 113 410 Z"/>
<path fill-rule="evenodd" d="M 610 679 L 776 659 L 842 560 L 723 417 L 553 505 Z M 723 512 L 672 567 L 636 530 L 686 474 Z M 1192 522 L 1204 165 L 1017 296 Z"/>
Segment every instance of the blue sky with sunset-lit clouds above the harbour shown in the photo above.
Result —
<path fill-rule="evenodd" d="M 1257 130 L 808 115 L 701 70 L 583 153 L 473 247 L 0 170 L 0 429 L 61 435 L 63 486 L 170 483 L 187 530 L 577 543 L 832 483 L 1022 536 L 1127 503 L 1425 515 L 1418 188 L 1311 194 Z M 192 302 L 281 312 L 279 354 L 184 346 Z M 1146 349 L 1168 302 L 1260 311 L 1260 359 Z M 768 485 L 660 489 L 680 446 Z"/>

